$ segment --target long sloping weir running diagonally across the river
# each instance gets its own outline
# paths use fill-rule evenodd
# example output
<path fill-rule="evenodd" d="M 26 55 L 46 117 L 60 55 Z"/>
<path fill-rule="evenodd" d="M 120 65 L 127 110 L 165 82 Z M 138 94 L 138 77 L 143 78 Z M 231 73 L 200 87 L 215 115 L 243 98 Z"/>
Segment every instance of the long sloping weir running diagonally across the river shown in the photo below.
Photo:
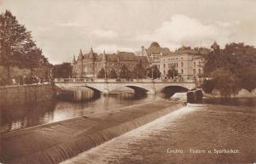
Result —
<path fill-rule="evenodd" d="M 3 163 L 55 164 L 183 107 L 164 99 L 2 133 Z"/>

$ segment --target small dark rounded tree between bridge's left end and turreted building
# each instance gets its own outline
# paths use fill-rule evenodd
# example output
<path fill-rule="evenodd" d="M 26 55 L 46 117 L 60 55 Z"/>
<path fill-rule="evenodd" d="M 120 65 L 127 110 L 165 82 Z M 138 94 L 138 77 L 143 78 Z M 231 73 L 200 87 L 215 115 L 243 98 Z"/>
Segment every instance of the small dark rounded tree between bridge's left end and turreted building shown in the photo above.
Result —
<path fill-rule="evenodd" d="M 54 65 L 53 73 L 55 78 L 68 78 L 69 76 L 71 76 L 72 66 L 70 63 Z"/>

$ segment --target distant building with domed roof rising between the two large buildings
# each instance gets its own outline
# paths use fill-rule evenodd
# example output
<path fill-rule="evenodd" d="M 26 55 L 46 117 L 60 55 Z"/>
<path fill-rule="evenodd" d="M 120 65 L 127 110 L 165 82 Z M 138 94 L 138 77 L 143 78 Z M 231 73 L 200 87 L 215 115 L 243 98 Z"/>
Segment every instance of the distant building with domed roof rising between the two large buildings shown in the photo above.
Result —
<path fill-rule="evenodd" d="M 152 42 L 149 48 L 142 46 L 142 56 L 146 56 L 150 65 L 157 65 L 160 69 L 160 57 L 171 54 L 169 48 L 161 48 L 158 42 Z"/>

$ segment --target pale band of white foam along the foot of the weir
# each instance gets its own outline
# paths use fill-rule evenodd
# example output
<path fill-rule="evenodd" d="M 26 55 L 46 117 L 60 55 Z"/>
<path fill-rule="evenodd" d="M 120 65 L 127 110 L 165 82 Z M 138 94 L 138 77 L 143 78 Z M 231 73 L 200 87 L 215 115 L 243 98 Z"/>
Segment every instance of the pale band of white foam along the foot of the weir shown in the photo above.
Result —
<path fill-rule="evenodd" d="M 159 133 L 165 131 L 166 126 L 172 126 L 172 122 L 189 114 L 190 112 L 196 110 L 189 106 L 183 107 L 180 110 L 175 110 L 166 116 L 162 116 L 154 122 L 149 122 L 148 124 L 138 127 L 131 132 L 125 133 L 117 138 L 114 138 L 100 146 L 97 146 L 91 150 L 85 151 L 79 156 L 75 156 L 67 161 L 61 162 L 61 164 L 70 163 L 114 163 L 117 156 L 132 155 L 132 151 L 128 148 L 129 145 L 136 143 L 138 140 L 151 138 L 154 133 Z M 175 126 L 175 124 L 173 124 Z M 133 155 L 136 156 L 136 155 Z M 140 156 L 137 156 L 140 158 Z M 108 161 L 106 161 L 108 159 Z"/>

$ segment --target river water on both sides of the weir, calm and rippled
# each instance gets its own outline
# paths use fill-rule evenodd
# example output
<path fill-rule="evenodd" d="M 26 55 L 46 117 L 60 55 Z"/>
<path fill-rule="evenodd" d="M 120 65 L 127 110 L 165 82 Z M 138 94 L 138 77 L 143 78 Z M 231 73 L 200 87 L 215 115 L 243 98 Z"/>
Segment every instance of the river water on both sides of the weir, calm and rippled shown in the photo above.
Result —
<path fill-rule="evenodd" d="M 1 132 L 162 99 L 123 93 L 87 103 L 52 100 L 3 110 Z M 205 99 L 63 163 L 253 163 L 256 99 Z"/>

